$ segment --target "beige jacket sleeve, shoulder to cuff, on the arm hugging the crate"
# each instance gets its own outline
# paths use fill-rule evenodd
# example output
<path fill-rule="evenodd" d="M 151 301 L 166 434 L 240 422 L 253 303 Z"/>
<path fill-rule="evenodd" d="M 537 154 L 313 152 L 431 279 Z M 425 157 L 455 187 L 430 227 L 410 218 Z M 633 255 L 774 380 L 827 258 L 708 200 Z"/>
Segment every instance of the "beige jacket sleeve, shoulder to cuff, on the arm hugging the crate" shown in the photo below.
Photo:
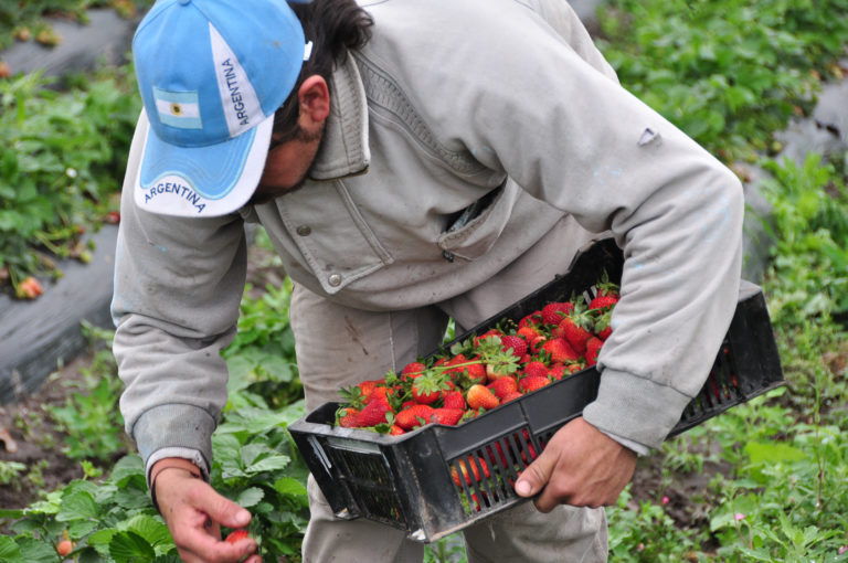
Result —
<path fill-rule="evenodd" d="M 444 146 L 615 236 L 622 298 L 584 417 L 656 447 L 701 389 L 735 308 L 741 183 L 622 87 L 576 31 L 565 38 L 569 25 L 531 9 L 558 2 L 438 3 L 426 26 L 445 38 L 468 25 L 478 41 L 420 45 L 441 63 L 403 82 L 432 93 L 420 104 Z"/>

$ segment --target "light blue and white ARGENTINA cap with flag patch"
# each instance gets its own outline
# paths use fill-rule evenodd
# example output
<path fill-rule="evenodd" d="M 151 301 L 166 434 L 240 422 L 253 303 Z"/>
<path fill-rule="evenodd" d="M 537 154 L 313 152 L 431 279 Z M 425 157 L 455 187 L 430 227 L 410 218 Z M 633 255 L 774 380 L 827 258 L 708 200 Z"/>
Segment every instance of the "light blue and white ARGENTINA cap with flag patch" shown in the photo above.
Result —
<path fill-rule="evenodd" d="M 132 56 L 150 123 L 136 203 L 184 216 L 243 206 L 262 177 L 274 111 L 308 57 L 288 3 L 159 0 Z"/>

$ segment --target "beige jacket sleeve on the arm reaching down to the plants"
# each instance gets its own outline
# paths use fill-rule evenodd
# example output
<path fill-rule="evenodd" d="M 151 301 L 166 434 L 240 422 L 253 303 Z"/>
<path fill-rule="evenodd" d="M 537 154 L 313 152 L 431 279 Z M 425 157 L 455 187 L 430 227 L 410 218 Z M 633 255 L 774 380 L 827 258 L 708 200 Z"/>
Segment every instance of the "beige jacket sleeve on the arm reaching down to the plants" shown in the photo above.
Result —
<path fill-rule="evenodd" d="M 112 314 L 127 433 L 145 461 L 189 448 L 211 463 L 211 435 L 226 403 L 226 364 L 245 280 L 241 219 L 156 215 L 134 203 L 147 121 L 127 166 Z"/>

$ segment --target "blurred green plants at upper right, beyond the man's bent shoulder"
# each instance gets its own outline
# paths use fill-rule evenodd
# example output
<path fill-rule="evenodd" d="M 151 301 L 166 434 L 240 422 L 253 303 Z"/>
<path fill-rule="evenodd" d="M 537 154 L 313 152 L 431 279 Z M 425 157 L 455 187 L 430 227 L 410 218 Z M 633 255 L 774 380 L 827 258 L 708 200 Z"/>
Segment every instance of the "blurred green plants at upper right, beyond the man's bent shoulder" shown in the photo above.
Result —
<path fill-rule="evenodd" d="M 598 15 L 622 84 L 728 161 L 776 148 L 848 41 L 846 0 L 613 0 Z"/>

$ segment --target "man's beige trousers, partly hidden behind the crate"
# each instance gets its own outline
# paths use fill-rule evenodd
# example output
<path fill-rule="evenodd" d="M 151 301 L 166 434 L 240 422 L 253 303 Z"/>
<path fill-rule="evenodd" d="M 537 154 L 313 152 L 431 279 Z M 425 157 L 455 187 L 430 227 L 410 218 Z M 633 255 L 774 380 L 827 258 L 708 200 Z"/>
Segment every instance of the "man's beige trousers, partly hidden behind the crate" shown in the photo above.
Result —
<path fill-rule="evenodd" d="M 434 351 L 448 318 L 470 328 L 565 272 L 591 235 L 563 219 L 497 276 L 458 297 L 414 310 L 371 312 L 333 304 L 301 286 L 292 297 L 300 380 L 312 411 L 339 401 L 340 387 L 377 379 Z M 305 563 L 421 563 L 424 549 L 391 527 L 339 520 L 309 479 Z M 523 502 L 464 531 L 469 563 L 595 563 L 607 556 L 603 509 L 561 506 L 549 514 Z"/>

